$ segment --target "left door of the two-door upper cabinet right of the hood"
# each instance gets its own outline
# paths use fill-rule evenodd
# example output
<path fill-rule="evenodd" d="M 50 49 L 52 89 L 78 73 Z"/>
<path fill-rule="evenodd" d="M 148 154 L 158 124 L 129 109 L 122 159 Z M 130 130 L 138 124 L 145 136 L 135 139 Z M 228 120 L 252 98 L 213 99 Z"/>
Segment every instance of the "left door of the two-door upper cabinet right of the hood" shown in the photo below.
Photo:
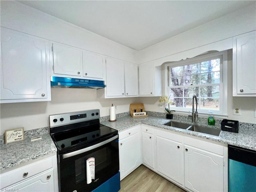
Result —
<path fill-rule="evenodd" d="M 107 96 L 124 96 L 124 62 L 112 58 L 106 60 Z"/>

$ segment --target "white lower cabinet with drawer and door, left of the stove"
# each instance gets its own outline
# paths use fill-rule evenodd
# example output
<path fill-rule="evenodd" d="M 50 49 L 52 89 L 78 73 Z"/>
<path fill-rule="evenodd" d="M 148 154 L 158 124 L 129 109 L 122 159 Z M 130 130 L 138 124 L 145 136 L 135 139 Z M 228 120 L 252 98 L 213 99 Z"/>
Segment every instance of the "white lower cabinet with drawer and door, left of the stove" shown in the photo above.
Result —
<path fill-rule="evenodd" d="M 57 192 L 56 153 L 2 170 L 0 191 Z"/>

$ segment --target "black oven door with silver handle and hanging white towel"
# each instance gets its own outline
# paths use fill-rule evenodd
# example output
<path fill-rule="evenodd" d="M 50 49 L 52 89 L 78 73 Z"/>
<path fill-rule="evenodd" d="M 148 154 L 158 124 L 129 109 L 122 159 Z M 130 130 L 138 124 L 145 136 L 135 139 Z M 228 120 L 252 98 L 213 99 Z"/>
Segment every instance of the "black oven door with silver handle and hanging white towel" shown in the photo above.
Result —
<path fill-rule="evenodd" d="M 119 172 L 118 135 L 105 138 L 86 148 L 60 154 L 58 158 L 60 192 L 92 191 Z M 92 160 L 90 163 L 95 165 L 94 174 L 90 172 L 93 166 L 89 169 L 89 163 L 86 166 L 86 160 L 89 158 Z"/>

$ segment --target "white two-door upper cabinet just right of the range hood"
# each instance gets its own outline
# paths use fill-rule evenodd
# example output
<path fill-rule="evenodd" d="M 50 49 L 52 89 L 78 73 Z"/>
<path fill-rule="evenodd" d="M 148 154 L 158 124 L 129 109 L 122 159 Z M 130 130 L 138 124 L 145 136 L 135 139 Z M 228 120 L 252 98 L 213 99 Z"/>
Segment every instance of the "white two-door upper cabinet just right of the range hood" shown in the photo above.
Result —
<path fill-rule="evenodd" d="M 97 90 L 98 98 L 138 96 L 138 65 L 106 58 L 106 88 Z"/>

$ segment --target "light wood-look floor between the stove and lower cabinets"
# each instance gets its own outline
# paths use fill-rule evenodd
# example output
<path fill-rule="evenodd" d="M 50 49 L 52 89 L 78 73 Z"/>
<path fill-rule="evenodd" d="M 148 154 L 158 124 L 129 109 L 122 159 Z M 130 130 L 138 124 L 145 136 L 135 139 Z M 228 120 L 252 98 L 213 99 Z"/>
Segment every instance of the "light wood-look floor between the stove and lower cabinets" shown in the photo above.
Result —
<path fill-rule="evenodd" d="M 185 192 L 162 176 L 141 165 L 121 181 L 119 192 Z"/>

